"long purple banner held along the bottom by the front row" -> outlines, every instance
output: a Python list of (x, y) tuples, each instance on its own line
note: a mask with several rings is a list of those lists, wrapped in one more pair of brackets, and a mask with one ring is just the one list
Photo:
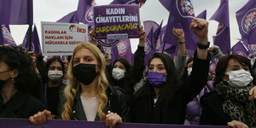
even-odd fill
[[(42, 126), (33, 125), (28, 119), (0, 119), (0, 128), (108, 128), (104, 122), (76, 120), (47, 120)], [(229, 128), (224, 125), (164, 125), (164, 124), (135, 124), (121, 123), (116, 128)]]

